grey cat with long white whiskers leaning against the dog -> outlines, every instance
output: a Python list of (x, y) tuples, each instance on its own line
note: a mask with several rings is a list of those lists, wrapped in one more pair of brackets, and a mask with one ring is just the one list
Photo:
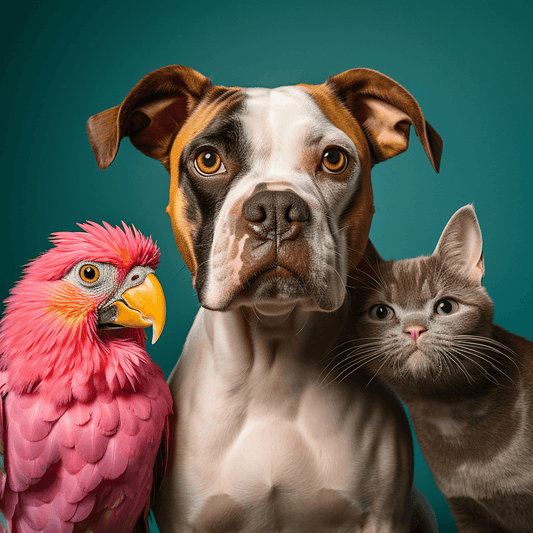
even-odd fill
[(366, 369), (399, 396), (459, 533), (533, 532), (533, 343), (493, 324), (474, 208), (432, 255), (384, 261), (369, 243), (363, 264), (358, 340), (331, 375)]

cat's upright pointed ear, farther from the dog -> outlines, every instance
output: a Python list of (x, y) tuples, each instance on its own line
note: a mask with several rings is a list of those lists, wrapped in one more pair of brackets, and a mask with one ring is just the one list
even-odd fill
[(465, 205), (455, 212), (433, 253), (481, 285), (485, 274), (483, 239), (473, 205)]

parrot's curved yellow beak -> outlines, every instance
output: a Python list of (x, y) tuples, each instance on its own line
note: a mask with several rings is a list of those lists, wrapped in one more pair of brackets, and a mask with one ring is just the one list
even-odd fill
[(154, 274), (148, 274), (146, 279), (136, 287), (128, 289), (122, 294), (126, 302), (116, 302), (117, 316), (113, 324), (120, 324), (130, 328), (147, 328), (153, 326), (152, 344), (155, 344), (163, 328), (167, 306), (161, 283)]

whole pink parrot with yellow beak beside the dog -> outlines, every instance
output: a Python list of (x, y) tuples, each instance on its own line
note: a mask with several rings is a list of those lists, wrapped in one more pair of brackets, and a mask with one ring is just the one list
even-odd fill
[(164, 325), (159, 250), (124, 223), (79, 226), (52, 235), (0, 322), (10, 532), (147, 531), (166, 462), (172, 397), (141, 329), (155, 342)]

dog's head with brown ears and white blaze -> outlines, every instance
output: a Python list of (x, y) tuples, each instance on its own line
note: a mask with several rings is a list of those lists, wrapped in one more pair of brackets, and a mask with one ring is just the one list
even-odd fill
[(167, 213), (204, 307), (332, 311), (368, 240), (371, 168), (407, 149), (411, 124), (438, 172), (440, 137), (414, 98), (373, 70), (243, 89), (169, 66), (87, 129), (101, 169), (128, 136), (170, 172)]

